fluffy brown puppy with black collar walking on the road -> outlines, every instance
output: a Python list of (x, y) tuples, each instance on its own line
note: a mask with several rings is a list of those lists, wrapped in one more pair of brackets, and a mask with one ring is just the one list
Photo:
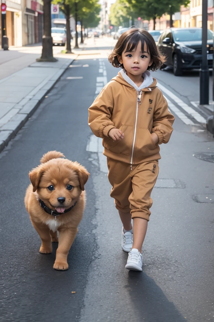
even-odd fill
[(67, 256), (78, 232), (85, 207), (84, 185), (88, 171), (77, 162), (62, 159), (62, 153), (50, 151), (34, 168), (24, 203), (42, 245), (40, 253), (52, 252), (51, 242), (58, 242), (53, 268), (67, 270)]

